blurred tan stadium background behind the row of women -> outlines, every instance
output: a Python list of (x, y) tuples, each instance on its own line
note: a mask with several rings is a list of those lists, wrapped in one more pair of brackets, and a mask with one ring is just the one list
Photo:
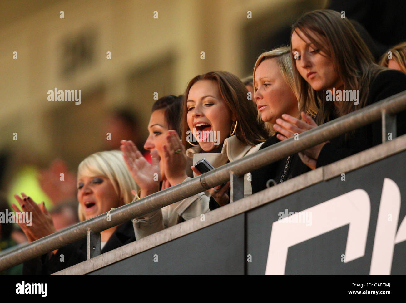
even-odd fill
[[(2, 0), (0, 191), (73, 205), (82, 159), (122, 139), (143, 148), (154, 92), (180, 95), (211, 70), (252, 75), (302, 13), (323, 8), (365, 27), (376, 56), (406, 40), (403, 0)], [(82, 90), (81, 104), (49, 102), (54, 88)]]

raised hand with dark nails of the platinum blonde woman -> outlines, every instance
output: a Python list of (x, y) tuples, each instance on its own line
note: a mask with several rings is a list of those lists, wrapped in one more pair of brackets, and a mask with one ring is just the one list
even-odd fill
[[(24, 234), (28, 238), (28, 242), (32, 242), (42, 237), (48, 236), (56, 232), (52, 217), (45, 208), (44, 202), (41, 204), (35, 203), (30, 197), (27, 197), (25, 193), (21, 193), (22, 198), (18, 195), (14, 195), (15, 200), (21, 206), (23, 212), (32, 213), (31, 221), (19, 222), (19, 218), (16, 217), (16, 223), (22, 229)], [(19, 213), (20, 210), (15, 204), (11, 204), (11, 207)]]

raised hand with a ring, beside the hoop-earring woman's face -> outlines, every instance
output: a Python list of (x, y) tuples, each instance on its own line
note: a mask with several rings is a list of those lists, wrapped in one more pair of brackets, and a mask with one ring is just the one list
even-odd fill
[[(173, 186), (185, 181), (186, 165), (188, 163), (185, 146), (178, 134), (174, 130), (168, 131), (166, 136), (166, 144), (163, 148), (163, 161), (165, 177)], [(180, 150), (180, 153), (175, 153), (175, 150)]]

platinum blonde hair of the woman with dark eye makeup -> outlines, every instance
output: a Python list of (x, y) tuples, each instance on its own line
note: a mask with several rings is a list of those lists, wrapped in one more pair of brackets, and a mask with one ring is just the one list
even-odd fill
[[(104, 176), (108, 178), (120, 200), (123, 201), (122, 205), (135, 200), (131, 190), (138, 191), (138, 185), (128, 171), (123, 155), (119, 150), (94, 153), (84, 159), (78, 167), (78, 180), (84, 176)], [(80, 203), (78, 215), (79, 220), (84, 221), (84, 211)]]

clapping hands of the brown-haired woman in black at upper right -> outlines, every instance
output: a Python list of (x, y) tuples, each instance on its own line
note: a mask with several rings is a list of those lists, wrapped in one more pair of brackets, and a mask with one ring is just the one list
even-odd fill
[[(279, 134), (276, 135), (279, 140), (286, 140), (287, 138), (293, 137), (294, 133), (300, 134), (304, 131), (317, 127), (317, 124), (314, 122), (313, 118), (304, 114), (304, 112), (301, 112), (300, 115), (302, 116), (303, 120), (299, 120), (289, 116), (288, 114), (283, 114), (283, 119), (276, 119), (276, 124), (274, 124), (273, 127), (279, 132)], [(302, 162), (314, 170), (316, 168), (317, 159), (319, 158), (320, 152), (326, 143), (328, 143), (328, 141), (299, 152), (298, 155)]]

